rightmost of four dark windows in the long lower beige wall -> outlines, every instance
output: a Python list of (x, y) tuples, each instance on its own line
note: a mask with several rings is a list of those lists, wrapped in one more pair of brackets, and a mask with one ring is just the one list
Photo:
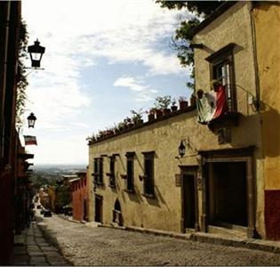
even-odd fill
[(154, 157), (155, 152), (143, 152), (144, 155), (144, 196), (154, 197)]

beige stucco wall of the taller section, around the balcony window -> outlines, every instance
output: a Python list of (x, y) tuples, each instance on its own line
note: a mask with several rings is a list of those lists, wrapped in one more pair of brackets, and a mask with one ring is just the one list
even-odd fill
[(236, 44), (234, 54), (237, 111), (242, 113), (240, 124), (232, 127), (229, 146), (255, 145), (256, 227), (261, 236), (264, 231), (264, 182), (260, 114), (248, 104), (249, 95), (256, 96), (256, 80), (252, 43), (250, 2), (238, 2), (210, 25), (201, 30), (193, 41), (206, 48), (195, 49), (196, 90), (210, 90), (210, 66), (205, 58), (227, 44)]

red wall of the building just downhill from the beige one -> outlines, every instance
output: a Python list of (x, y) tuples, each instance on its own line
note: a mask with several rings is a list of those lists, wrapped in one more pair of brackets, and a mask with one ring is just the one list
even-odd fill
[[(86, 174), (80, 175), (80, 180), (72, 182), (72, 207), (73, 219), (76, 221), (87, 220), (87, 201), (88, 192), (86, 184)], [(84, 201), (86, 201), (86, 208), (84, 210)], [(84, 216), (86, 216), (84, 218)]]

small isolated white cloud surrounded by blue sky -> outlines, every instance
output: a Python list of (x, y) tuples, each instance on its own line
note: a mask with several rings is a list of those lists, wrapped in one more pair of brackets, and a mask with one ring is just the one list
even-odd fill
[(134, 77), (119, 77), (114, 82), (114, 86), (127, 87), (132, 90), (135, 95), (135, 101), (151, 101), (154, 99), (155, 89), (151, 89), (149, 85), (142, 85), (143, 80)]

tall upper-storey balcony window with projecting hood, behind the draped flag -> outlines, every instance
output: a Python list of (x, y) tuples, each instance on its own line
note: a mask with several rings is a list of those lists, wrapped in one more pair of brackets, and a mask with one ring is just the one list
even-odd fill
[(237, 111), (233, 57), (234, 47), (235, 44), (228, 44), (205, 59), (210, 63), (211, 79), (219, 80), (226, 87), (229, 112)]

